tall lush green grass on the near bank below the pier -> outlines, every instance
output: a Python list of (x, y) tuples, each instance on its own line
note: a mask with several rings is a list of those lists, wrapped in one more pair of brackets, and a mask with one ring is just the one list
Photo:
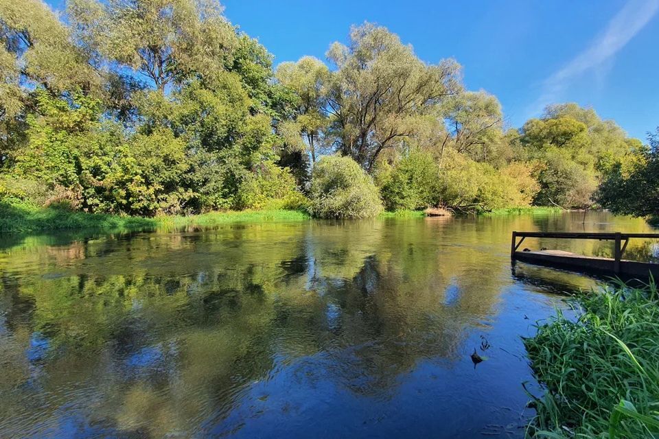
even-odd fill
[[(659, 294), (618, 285), (578, 299), (524, 341), (537, 380), (537, 438), (659, 437)], [(535, 397), (534, 397), (535, 398)]]

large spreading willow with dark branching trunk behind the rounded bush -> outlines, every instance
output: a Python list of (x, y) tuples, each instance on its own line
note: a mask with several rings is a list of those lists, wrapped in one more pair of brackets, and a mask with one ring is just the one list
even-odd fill
[(343, 154), (370, 171), (385, 148), (415, 133), (424, 115), (461, 90), (454, 60), (426, 64), (385, 27), (353, 27), (348, 45), (327, 52), (334, 63), (327, 111)]

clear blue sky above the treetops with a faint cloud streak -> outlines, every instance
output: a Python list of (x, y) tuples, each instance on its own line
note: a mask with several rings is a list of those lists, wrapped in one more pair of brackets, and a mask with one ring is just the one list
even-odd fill
[[(63, 0), (49, 0), (62, 8)], [(389, 27), (419, 58), (453, 57), (467, 88), (500, 100), (509, 126), (577, 102), (645, 139), (659, 126), (659, 0), (224, 0), (275, 64), (345, 42), (352, 24)]]

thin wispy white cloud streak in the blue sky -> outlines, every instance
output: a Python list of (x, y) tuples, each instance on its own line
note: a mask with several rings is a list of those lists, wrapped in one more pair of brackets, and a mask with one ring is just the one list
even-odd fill
[(659, 0), (628, 1), (586, 50), (542, 82), (542, 93), (529, 108), (529, 113), (537, 115), (544, 106), (560, 99), (570, 83), (587, 71), (594, 71), (602, 78), (607, 66), (611, 65), (608, 61), (647, 25), (658, 10)]

